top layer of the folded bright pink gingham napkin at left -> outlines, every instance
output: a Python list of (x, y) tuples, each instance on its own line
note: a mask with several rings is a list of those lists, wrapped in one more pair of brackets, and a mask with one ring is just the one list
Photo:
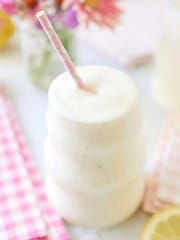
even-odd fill
[(0, 98), (0, 239), (46, 235), (33, 185), (11, 128), (9, 105)]

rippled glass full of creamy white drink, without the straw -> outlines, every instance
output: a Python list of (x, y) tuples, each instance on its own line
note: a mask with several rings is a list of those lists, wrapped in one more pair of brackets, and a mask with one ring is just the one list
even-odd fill
[(47, 191), (65, 220), (108, 227), (129, 217), (143, 195), (139, 96), (133, 81), (113, 68), (78, 72), (93, 93), (78, 89), (68, 73), (49, 90)]

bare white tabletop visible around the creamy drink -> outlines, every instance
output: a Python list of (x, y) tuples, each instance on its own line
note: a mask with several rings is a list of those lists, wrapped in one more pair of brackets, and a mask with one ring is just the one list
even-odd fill
[[(78, 63), (113, 65), (104, 57), (85, 46), (78, 48)], [(119, 66), (115, 66), (118, 67)], [(165, 123), (165, 114), (152, 101), (150, 94), (153, 78), (153, 64), (126, 69), (137, 82), (144, 110), (144, 133), (147, 142), (147, 160), (152, 159), (161, 129)], [(44, 175), (43, 142), (46, 135), (45, 112), (47, 94), (36, 88), (23, 71), (22, 59), (17, 46), (12, 44), (6, 50), (0, 50), (0, 84), (6, 86), (8, 95), (16, 109), (24, 134)], [(72, 240), (138, 240), (147, 215), (139, 211), (121, 226), (108, 230), (87, 230), (70, 227)]]

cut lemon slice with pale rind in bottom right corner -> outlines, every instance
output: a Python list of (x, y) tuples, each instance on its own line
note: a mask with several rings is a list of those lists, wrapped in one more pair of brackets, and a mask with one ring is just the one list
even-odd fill
[(180, 207), (169, 207), (150, 218), (142, 240), (180, 240)]

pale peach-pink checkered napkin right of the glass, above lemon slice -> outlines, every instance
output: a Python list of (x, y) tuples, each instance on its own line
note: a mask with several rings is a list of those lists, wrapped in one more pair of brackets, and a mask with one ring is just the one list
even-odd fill
[(143, 209), (154, 213), (180, 204), (180, 119), (171, 119), (147, 174)]

